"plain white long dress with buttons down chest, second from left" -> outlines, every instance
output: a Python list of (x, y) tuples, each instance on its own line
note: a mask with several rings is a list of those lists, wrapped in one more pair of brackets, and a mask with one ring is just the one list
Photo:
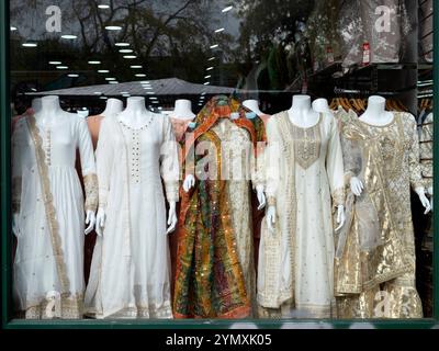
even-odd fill
[(165, 180), (179, 200), (178, 146), (168, 117), (150, 113), (134, 129), (106, 117), (97, 150), (100, 208), (105, 208), (86, 293), (97, 318), (172, 318)]

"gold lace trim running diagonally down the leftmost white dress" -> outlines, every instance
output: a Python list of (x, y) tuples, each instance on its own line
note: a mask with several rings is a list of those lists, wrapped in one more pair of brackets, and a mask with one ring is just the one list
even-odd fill
[(59, 235), (59, 225), (56, 217), (56, 210), (54, 206), (54, 196), (50, 192), (50, 180), (48, 177), (48, 167), (44, 161), (46, 159), (46, 154), (43, 149), (43, 139), (40, 135), (40, 129), (36, 126), (35, 116), (30, 115), (27, 118), (27, 127), (31, 133), (32, 140), (35, 146), (35, 159), (38, 168), (38, 173), (41, 178), (42, 196), (44, 199), (44, 207), (46, 214), (46, 220), (48, 226), (48, 231), (50, 235), (52, 249), (54, 252), (54, 258), (56, 262), (56, 270), (58, 273), (59, 283), (61, 291), (64, 292), (61, 297), (70, 290), (70, 282), (67, 276), (66, 263), (64, 261), (64, 252), (61, 247), (61, 237)]

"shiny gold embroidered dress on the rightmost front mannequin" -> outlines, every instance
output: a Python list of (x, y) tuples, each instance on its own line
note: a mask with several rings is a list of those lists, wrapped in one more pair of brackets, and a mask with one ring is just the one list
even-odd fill
[(350, 112), (342, 131), (347, 184), (358, 177), (364, 191), (348, 195), (338, 242), (339, 317), (421, 318), (410, 210), (410, 185), (423, 186), (415, 118), (394, 113), (372, 126)]

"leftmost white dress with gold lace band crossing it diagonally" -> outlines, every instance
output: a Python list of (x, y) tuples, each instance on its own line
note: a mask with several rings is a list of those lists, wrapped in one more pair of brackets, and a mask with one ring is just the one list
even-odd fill
[[(14, 297), (27, 319), (81, 318), (85, 210), (95, 211), (98, 184), (85, 120), (53, 125), (21, 118), (12, 136), (13, 210), (19, 215)], [(79, 148), (87, 202), (75, 169)]]

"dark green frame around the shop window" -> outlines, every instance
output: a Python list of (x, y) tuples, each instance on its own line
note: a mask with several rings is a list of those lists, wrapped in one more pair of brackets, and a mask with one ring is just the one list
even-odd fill
[[(1, 282), (2, 282), (2, 328), (3, 329), (229, 329), (234, 324), (251, 324), (260, 329), (277, 329), (285, 324), (294, 328), (295, 325), (309, 324), (329, 328), (350, 328), (353, 324), (361, 327), (367, 324), (376, 329), (430, 329), (439, 328), (439, 213), (434, 213), (434, 318), (419, 320), (49, 320), (30, 321), (12, 318), (12, 254), (11, 254), (11, 126), (10, 126), (10, 69), (9, 69), (9, 38), (10, 19), (9, 1), (0, 1), (0, 225), (1, 225)], [(439, 33), (439, 11), (435, 12), (435, 33)], [(435, 35), (435, 46), (439, 48), (439, 35)], [(435, 61), (439, 61), (439, 50), (435, 50)], [(439, 84), (439, 68), (435, 65), (435, 100)], [(439, 104), (435, 104), (435, 113), (439, 113)], [(436, 120), (435, 129), (439, 127)], [(435, 155), (439, 155), (439, 136), (435, 133)], [(439, 170), (439, 162), (434, 165), (435, 176)], [(435, 188), (439, 189), (439, 177), (435, 177)], [(435, 197), (435, 208), (437, 208)]]

